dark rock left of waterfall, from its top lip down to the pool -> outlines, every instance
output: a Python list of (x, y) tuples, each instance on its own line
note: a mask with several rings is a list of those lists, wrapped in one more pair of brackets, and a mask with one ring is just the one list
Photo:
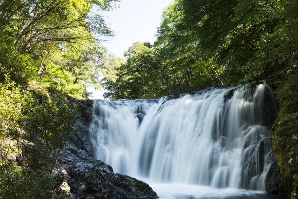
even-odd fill
[(69, 199), (156, 199), (149, 185), (115, 174), (110, 165), (93, 158), (89, 126), (93, 100), (69, 99), (77, 104), (77, 132), (69, 136), (55, 168), (57, 197)]

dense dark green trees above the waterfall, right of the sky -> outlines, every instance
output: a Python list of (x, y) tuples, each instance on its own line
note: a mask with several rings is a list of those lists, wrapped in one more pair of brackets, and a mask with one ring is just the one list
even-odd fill
[(297, 65), (297, 8), (297, 0), (175, 0), (154, 44), (133, 43), (116, 78), (103, 80), (105, 97), (160, 98), (279, 81)]

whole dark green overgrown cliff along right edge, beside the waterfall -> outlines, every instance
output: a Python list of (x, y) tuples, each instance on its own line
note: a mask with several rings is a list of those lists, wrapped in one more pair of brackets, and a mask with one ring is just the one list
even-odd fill
[(296, 199), (298, 193), (298, 72), (288, 75), (277, 90), (279, 117), (272, 127), (271, 141), (280, 167), (280, 198)]

